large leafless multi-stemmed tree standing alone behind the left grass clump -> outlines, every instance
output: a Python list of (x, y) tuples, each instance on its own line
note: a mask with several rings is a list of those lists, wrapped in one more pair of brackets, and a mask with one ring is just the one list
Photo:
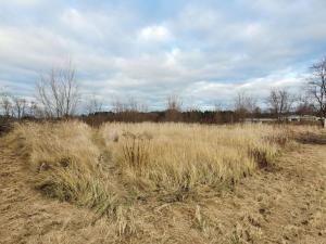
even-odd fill
[(52, 68), (49, 74), (41, 76), (36, 92), (47, 117), (74, 115), (79, 91), (71, 62), (64, 68)]

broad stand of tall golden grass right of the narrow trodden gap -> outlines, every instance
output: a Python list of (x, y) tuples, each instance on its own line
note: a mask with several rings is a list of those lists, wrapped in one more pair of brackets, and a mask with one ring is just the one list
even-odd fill
[(106, 124), (100, 131), (130, 185), (166, 192), (235, 183), (271, 166), (289, 137), (262, 125)]

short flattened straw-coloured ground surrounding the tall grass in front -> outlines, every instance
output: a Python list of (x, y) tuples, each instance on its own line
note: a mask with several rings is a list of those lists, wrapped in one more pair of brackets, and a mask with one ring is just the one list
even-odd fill
[(301, 142), (277, 165), (233, 190), (143, 201), (127, 224), (41, 195), (0, 139), (0, 243), (326, 243), (325, 140)]

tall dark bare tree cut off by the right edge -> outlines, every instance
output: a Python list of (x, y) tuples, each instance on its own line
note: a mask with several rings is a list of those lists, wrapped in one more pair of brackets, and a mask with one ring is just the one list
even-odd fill
[(311, 67), (309, 92), (317, 105), (318, 113), (326, 117), (326, 57)]

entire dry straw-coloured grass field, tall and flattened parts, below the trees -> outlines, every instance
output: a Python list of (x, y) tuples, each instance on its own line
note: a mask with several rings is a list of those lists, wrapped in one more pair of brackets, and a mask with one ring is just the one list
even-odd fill
[(0, 139), (0, 243), (326, 243), (316, 127), (79, 121)]

